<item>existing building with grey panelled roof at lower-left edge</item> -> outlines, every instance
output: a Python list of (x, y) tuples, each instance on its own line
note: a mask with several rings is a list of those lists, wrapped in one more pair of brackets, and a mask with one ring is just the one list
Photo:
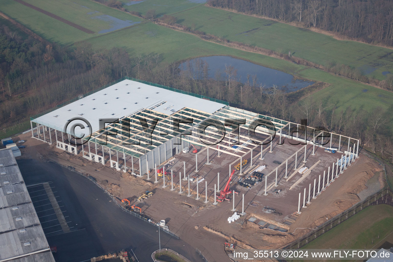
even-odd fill
[(0, 261), (55, 261), (11, 148), (0, 150)]

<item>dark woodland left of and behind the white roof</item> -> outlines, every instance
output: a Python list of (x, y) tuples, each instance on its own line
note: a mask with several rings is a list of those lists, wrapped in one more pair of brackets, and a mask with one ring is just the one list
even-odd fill
[(0, 27), (0, 123), (7, 127), (79, 94), (128, 75), (129, 55), (121, 48), (75, 51), (22, 39)]

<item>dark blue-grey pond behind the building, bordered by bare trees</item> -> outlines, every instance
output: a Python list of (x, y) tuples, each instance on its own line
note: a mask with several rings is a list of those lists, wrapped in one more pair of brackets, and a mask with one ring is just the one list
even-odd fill
[(216, 55), (210, 57), (198, 57), (181, 63), (179, 68), (181, 70), (189, 70), (195, 76), (196, 72), (206, 66), (208, 66), (208, 77), (211, 79), (217, 80), (218, 76), (220, 76), (220, 80), (224, 80), (227, 78), (225, 73), (226, 68), (233, 66), (233, 69), (237, 70), (237, 72), (236, 76), (232, 77), (232, 79), (235, 79), (236, 81), (239, 81), (240, 79), (240, 82), (246, 83), (247, 75), (250, 75), (249, 81), (250, 84), (252, 84), (252, 76), (255, 75), (255, 86), (259, 87), (262, 84), (265, 88), (270, 88), (273, 85), (276, 85), (287, 93), (294, 92), (314, 84), (312, 81), (295, 79), (293, 75), (282, 71), (253, 64), (252, 62), (230, 56)]

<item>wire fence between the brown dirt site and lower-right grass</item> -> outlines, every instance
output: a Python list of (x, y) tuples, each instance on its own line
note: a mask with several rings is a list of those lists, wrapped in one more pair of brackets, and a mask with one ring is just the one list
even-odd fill
[(387, 187), (373, 194), (372, 196), (369, 196), (364, 201), (359, 202), (356, 205), (350, 207), (344, 212), (334, 216), (329, 221), (326, 221), (322, 225), (318, 226), (317, 229), (310, 231), (305, 236), (297, 240), (294, 240), (293, 242), (289, 243), (287, 246), (283, 248), (299, 249), (305, 246), (306, 244), (310, 243), (312, 240), (316, 239), (318, 236), (323, 235), (327, 231), (331, 230), (335, 226), (347, 220), (351, 216), (359, 213), (365, 207), (368, 207), (369, 205), (378, 205), (378, 204), (388, 204), (393, 206), (393, 193)]

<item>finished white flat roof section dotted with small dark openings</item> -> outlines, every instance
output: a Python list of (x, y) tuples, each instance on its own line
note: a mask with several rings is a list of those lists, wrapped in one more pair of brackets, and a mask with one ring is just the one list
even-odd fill
[[(46, 115), (37, 117), (33, 122), (63, 131), (64, 125), (69, 119), (83, 117), (89, 121), (92, 132), (95, 132), (99, 130), (99, 119), (121, 119), (145, 108), (154, 108), (155, 111), (167, 115), (174, 114), (184, 107), (213, 114), (224, 106), (226, 105), (137, 81), (123, 80), (62, 108), (53, 110)], [(82, 123), (87, 126), (86, 123), (78, 120), (72, 121), (70, 126), (75, 123)], [(69, 131), (68, 128), (67, 133)], [(75, 135), (78, 137), (83, 134), (87, 135), (87, 133), (88, 129), (75, 128)]]

